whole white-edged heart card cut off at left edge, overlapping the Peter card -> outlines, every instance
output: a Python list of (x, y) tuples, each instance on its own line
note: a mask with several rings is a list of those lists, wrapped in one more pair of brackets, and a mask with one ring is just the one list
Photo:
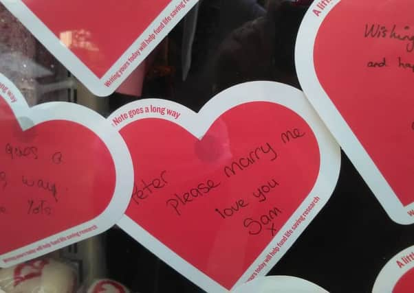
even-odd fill
[(3, 75), (0, 89), (0, 266), (113, 226), (133, 186), (118, 132), (76, 104), (29, 108)]

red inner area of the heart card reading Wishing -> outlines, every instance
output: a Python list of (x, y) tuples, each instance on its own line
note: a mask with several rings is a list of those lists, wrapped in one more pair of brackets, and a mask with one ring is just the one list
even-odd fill
[(320, 84), (404, 206), (414, 200), (414, 71), (399, 67), (398, 57), (414, 63), (414, 55), (412, 41), (392, 36), (394, 25), (396, 34), (414, 34), (406, 27), (413, 9), (410, 0), (340, 1), (314, 46)]

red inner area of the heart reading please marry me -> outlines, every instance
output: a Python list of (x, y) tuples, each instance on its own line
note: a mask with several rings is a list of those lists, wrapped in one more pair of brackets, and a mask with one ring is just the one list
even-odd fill
[[(287, 141), (282, 134), (288, 130), (297, 139)], [(155, 118), (134, 121), (120, 133), (135, 169), (126, 214), (228, 289), (308, 196), (320, 168), (318, 143), (307, 123), (270, 102), (231, 108), (201, 141)], [(235, 167), (235, 174), (226, 166)], [(259, 196), (262, 187), (270, 189), (266, 200)], [(265, 215), (272, 220), (260, 226), (252, 222), (261, 215), (263, 223), (268, 222)]]

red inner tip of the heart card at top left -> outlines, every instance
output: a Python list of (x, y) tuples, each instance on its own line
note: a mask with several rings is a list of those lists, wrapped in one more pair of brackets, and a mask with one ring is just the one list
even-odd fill
[(170, 2), (23, 0), (98, 78), (102, 78)]

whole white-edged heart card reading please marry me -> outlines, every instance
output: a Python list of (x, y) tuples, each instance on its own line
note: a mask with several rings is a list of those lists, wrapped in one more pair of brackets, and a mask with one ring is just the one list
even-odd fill
[(284, 84), (235, 86), (199, 113), (144, 99), (108, 119), (135, 169), (119, 226), (208, 292), (268, 272), (338, 178), (338, 145)]

